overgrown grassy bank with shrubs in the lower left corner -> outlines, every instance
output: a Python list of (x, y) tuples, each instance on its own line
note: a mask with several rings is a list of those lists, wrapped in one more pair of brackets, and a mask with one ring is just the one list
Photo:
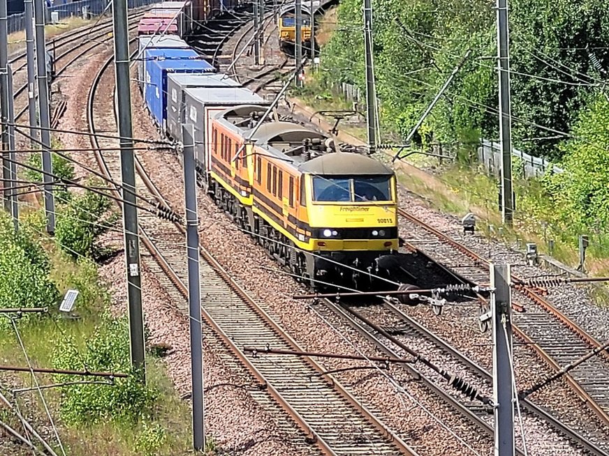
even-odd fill
[[(36, 271), (45, 271), (45, 287), (49, 296), (63, 296), (68, 289), (80, 292), (73, 314), (75, 318), (58, 312), (59, 303), (47, 303), (50, 312), (45, 315), (29, 314), (15, 320), (17, 331), (29, 357), (36, 367), (55, 367), (71, 370), (129, 372), (129, 335), (126, 317), (110, 314), (110, 293), (98, 276), (98, 266), (91, 259), (78, 260), (61, 250), (41, 231), (41, 215), (22, 215), (21, 231), (24, 238), (18, 241), (10, 234), (8, 217), (0, 214), (0, 243), (17, 252), (17, 260), (0, 254), (0, 270), (6, 282), (19, 280), (23, 264), (30, 261)], [(34, 222), (28, 222), (34, 220)], [(38, 250), (42, 246), (43, 248)], [(17, 250), (22, 248), (21, 252)], [(29, 248), (30, 253), (23, 252)], [(19, 254), (21, 253), (21, 254)], [(34, 270), (34, 269), (32, 269)], [(13, 273), (15, 271), (15, 273)], [(20, 283), (27, 287), (28, 277)], [(34, 285), (31, 285), (34, 289)], [(55, 290), (56, 288), (56, 290)], [(3, 298), (12, 298), (2, 307), (27, 305), (33, 296), (27, 290), (13, 293), (0, 286)], [(4, 301), (4, 299), (3, 299)], [(6, 300), (8, 301), (8, 300)], [(38, 303), (38, 301), (36, 301)], [(2, 363), (27, 366), (27, 358), (17, 333), (10, 321), (0, 321), (0, 347)], [(94, 377), (68, 377), (37, 374), (43, 385), (71, 381), (108, 381)], [(13, 388), (34, 386), (27, 373), (0, 376), (3, 392), (10, 397)], [(179, 399), (166, 374), (160, 358), (147, 354), (147, 386), (134, 380), (116, 379), (115, 385), (68, 385), (43, 390), (51, 416), (59, 427), (61, 442), (69, 455), (181, 455), (189, 453), (191, 444), (191, 412), (188, 402)], [(34, 420), (38, 430), (48, 429), (49, 420), (38, 391), (19, 393), (17, 399), (22, 411)], [(141, 406), (140, 406), (141, 404)], [(1, 407), (0, 407), (1, 408)], [(34, 417), (34, 418), (31, 418)], [(15, 416), (3, 411), (7, 420), (17, 430), (21, 429)], [(61, 454), (56, 439), (49, 443)], [(24, 452), (26, 454), (27, 452)]]

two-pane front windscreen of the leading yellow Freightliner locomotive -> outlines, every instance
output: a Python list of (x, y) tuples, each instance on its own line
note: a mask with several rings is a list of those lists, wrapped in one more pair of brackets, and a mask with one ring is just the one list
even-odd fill
[(392, 201), (390, 176), (313, 178), (313, 200), (316, 202)]

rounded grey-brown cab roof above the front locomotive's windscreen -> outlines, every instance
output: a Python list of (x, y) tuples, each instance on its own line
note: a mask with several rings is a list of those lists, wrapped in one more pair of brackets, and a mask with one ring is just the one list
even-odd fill
[(302, 163), (301, 172), (323, 176), (351, 176), (358, 174), (381, 174), (390, 176), (393, 171), (374, 158), (359, 153), (332, 152)]

